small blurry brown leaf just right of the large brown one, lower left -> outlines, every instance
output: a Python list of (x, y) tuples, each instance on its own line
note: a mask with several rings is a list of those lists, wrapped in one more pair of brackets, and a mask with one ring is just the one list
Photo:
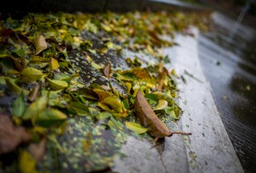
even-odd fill
[(31, 143), (29, 146), (29, 151), (31, 152), (32, 156), (36, 159), (36, 161), (41, 161), (45, 155), (45, 146), (46, 146), (47, 139), (42, 138), (40, 143)]

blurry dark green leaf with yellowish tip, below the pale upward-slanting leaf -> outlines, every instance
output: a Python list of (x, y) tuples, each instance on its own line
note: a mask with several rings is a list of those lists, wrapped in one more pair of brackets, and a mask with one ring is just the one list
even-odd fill
[(49, 128), (50, 126), (59, 126), (67, 119), (67, 115), (59, 110), (51, 108), (44, 110), (35, 119), (35, 124)]

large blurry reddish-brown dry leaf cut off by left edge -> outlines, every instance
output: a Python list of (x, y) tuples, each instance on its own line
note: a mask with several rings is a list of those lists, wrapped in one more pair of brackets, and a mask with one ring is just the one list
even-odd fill
[(23, 127), (16, 127), (7, 115), (0, 114), (0, 154), (12, 152), (20, 143), (31, 139)]

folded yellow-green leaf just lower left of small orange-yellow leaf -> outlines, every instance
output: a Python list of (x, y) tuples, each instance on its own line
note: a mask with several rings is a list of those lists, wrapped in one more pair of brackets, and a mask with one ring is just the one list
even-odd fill
[(44, 74), (36, 69), (36, 68), (25, 68), (22, 72), (21, 72), (21, 77), (20, 77), (20, 81), (21, 82), (33, 82), (33, 81), (37, 81), (40, 80), (40, 78), (43, 76)]

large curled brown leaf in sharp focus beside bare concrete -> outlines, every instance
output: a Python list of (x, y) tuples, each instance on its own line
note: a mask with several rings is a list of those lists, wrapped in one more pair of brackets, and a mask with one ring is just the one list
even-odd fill
[(170, 136), (172, 133), (166, 125), (154, 114), (154, 110), (145, 100), (141, 91), (138, 91), (135, 97), (135, 115), (140, 119), (140, 123), (149, 128), (149, 133), (155, 138), (164, 138)]

